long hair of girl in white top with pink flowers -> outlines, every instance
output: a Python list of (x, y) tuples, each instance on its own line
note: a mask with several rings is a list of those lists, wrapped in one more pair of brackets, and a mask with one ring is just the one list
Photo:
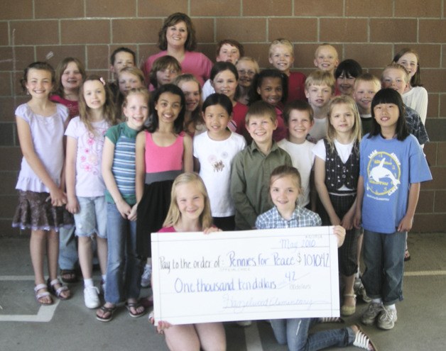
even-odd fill
[(95, 74), (92, 74), (91, 76), (85, 78), (79, 90), (79, 116), (80, 116), (80, 121), (85, 123), (87, 129), (90, 132), (95, 133), (92, 123), (89, 121), (89, 107), (87, 106), (84, 97), (84, 84), (85, 82), (88, 82), (90, 80), (97, 80), (104, 87), (105, 102), (104, 106), (102, 106), (102, 114), (104, 116), (104, 120), (107, 121), (107, 123), (109, 123), (110, 126), (114, 126), (116, 124), (116, 111), (114, 109), (112, 91), (110, 91), (110, 88), (105, 83), (104, 78), (99, 77)]

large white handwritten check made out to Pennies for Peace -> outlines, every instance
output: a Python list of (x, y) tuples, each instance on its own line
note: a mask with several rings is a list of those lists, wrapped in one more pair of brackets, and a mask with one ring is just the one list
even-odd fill
[(339, 316), (332, 227), (152, 233), (156, 321)]

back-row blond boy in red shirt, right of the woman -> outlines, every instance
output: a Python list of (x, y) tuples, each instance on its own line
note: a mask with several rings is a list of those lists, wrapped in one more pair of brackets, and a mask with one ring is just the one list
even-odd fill
[(288, 76), (288, 101), (305, 101), (305, 75), (290, 72), (294, 62), (293, 44), (290, 40), (279, 38), (269, 46), (269, 63)]

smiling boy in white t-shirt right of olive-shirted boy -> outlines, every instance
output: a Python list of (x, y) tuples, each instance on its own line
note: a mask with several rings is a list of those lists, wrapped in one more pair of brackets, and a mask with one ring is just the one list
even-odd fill
[(315, 123), (312, 108), (307, 101), (291, 101), (283, 109), (283, 120), (288, 128), (288, 138), (279, 141), (278, 146), (288, 152), (293, 167), (298, 169), (302, 186), (299, 205), (309, 208), (310, 175), (315, 163), (312, 149), (315, 144), (306, 138)]

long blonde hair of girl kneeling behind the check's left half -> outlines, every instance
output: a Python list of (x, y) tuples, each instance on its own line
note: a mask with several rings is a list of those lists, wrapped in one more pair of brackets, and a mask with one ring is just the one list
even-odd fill
[(178, 224), (181, 218), (180, 208), (178, 208), (177, 204), (177, 186), (182, 184), (189, 184), (195, 182), (198, 185), (198, 189), (205, 199), (205, 208), (203, 208), (202, 213), (200, 214), (200, 225), (202, 229), (210, 228), (212, 226), (212, 214), (211, 214), (211, 206), (209, 201), (209, 196), (207, 196), (207, 190), (205, 183), (203, 183), (200, 176), (196, 173), (183, 173), (175, 178), (172, 185), (172, 191), (170, 191), (170, 206), (167, 216), (165, 217), (165, 221), (163, 223), (163, 227), (171, 227), (173, 225)]

